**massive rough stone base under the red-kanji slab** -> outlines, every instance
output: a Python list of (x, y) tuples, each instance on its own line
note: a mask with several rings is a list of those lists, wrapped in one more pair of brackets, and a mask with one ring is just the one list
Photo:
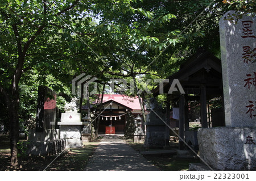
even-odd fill
[(256, 128), (200, 128), (200, 157), (217, 170), (256, 169)]

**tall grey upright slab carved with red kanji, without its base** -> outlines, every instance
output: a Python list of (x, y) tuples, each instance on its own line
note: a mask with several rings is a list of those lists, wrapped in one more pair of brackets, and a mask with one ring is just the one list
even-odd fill
[[(235, 13), (228, 12), (229, 15)], [(226, 126), (255, 127), (255, 16), (243, 16), (242, 19), (237, 20), (237, 23), (234, 20), (224, 19), (220, 22)]]

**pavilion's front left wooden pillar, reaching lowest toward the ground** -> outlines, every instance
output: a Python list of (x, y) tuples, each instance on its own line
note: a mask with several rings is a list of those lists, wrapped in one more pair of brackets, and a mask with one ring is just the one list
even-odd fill
[[(185, 121), (185, 98), (184, 95), (180, 95), (179, 101), (179, 150), (184, 150), (184, 121)], [(182, 138), (182, 140), (181, 140)]]

